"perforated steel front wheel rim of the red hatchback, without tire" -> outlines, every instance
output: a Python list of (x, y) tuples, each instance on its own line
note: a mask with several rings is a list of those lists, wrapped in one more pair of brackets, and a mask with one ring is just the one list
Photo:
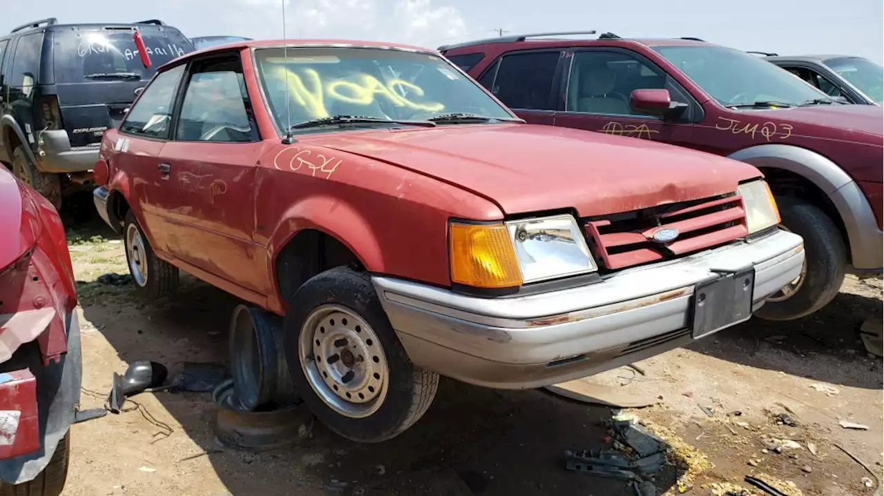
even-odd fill
[(389, 366), (374, 329), (355, 312), (324, 304), (310, 312), (298, 342), (310, 387), (340, 415), (369, 417), (384, 403)]

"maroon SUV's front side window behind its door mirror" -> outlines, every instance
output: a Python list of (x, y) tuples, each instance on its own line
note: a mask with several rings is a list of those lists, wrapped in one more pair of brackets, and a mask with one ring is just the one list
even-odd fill
[[(566, 109), (570, 112), (645, 116), (633, 113), (629, 95), (636, 89), (669, 89), (667, 75), (635, 56), (614, 51), (579, 51), (574, 54), (568, 79)], [(680, 92), (679, 92), (680, 93)]]

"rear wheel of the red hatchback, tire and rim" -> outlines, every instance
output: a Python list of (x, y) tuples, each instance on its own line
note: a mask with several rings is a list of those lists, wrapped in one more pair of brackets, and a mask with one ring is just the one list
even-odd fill
[(144, 236), (132, 210), (126, 212), (123, 243), (126, 245), (126, 262), (132, 274), (135, 288), (151, 299), (164, 297), (178, 289), (178, 267), (156, 258), (148, 237)]

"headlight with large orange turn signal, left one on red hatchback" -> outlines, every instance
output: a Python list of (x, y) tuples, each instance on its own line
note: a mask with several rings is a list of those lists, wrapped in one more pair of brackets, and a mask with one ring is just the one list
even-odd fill
[(450, 230), (452, 281), (507, 288), (598, 270), (570, 215), (505, 224), (462, 224)]

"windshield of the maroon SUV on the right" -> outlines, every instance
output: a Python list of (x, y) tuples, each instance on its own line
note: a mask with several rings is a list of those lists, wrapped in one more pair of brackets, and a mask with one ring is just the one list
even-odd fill
[(725, 106), (772, 101), (800, 105), (830, 100), (789, 71), (740, 50), (710, 45), (654, 49)]

